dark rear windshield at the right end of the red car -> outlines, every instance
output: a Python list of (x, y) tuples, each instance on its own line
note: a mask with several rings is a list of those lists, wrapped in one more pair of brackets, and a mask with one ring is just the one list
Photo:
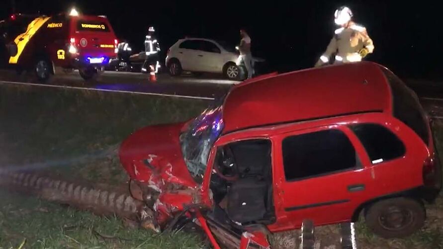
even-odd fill
[(392, 90), (394, 116), (409, 126), (419, 137), (429, 144), (428, 123), (415, 93), (397, 76), (383, 68)]

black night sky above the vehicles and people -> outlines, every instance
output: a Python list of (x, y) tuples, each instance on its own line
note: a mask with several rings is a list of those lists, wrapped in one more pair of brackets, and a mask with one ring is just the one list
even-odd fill
[[(4, 3), (6, 3), (6, 7)], [(12, 0), (2, 0), (0, 19), (11, 12)], [(311, 1), (191, 1), (191, 0), (15, 0), (17, 12), (53, 14), (70, 6), (87, 14), (107, 15), (117, 37), (140, 50), (150, 25), (158, 30), (165, 51), (184, 35), (212, 37), (235, 45), (245, 27), (253, 53), (270, 70), (311, 67), (335, 29), (333, 13), (341, 5), (354, 11), (374, 40), (368, 60), (404, 77), (443, 79), (442, 14), (436, 3), (378, 0)]]

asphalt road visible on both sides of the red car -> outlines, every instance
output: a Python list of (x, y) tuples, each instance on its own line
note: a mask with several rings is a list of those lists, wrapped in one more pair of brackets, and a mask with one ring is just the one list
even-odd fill
[[(238, 83), (217, 75), (171, 77), (167, 74), (160, 74), (156, 83), (149, 82), (148, 77), (149, 75), (140, 73), (104, 72), (96, 81), (85, 82), (75, 71), (54, 76), (45, 85), (213, 99), (223, 95), (233, 84)], [(0, 83), (1, 81), (40, 84), (30, 74), (18, 76), (14, 71), (8, 70), (0, 70)], [(421, 103), (431, 116), (443, 118), (443, 82), (420, 80), (406, 80), (405, 82), (418, 94)]]

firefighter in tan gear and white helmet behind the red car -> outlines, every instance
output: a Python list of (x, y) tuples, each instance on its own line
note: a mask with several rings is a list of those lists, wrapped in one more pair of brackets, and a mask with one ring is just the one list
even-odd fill
[(359, 62), (374, 50), (374, 44), (366, 28), (352, 21), (353, 13), (349, 7), (340, 7), (334, 16), (334, 21), (340, 28), (335, 30), (334, 37), (315, 67)]

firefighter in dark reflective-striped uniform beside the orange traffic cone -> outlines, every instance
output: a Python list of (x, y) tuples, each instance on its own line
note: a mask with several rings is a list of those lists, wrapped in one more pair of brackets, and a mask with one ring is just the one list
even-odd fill
[(160, 68), (159, 64), (159, 52), (160, 44), (155, 35), (154, 27), (149, 27), (148, 34), (145, 39), (145, 52), (146, 60), (143, 63), (142, 71), (146, 72), (150, 70), (150, 73), (157, 73)]

